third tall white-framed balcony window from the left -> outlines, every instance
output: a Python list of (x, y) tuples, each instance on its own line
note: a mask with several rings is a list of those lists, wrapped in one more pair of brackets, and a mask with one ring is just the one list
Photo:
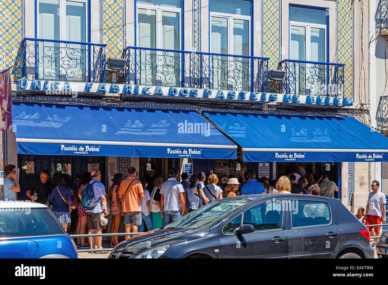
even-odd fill
[[(210, 0), (210, 52), (250, 55), (251, 2)], [(249, 59), (213, 56), (213, 89), (241, 88), (249, 85)]]

